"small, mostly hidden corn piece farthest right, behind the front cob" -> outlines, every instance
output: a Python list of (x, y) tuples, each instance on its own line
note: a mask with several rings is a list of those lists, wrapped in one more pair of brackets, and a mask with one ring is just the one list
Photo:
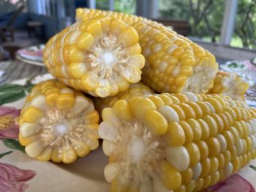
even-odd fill
[(249, 84), (242, 81), (237, 74), (218, 71), (214, 79), (214, 86), (208, 94), (224, 94), (235, 100), (244, 101)]

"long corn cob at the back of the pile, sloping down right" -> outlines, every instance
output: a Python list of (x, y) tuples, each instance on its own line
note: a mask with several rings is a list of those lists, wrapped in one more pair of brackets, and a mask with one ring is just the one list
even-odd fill
[(158, 93), (205, 94), (213, 86), (218, 63), (210, 52), (157, 22), (110, 11), (78, 9), (77, 19), (120, 18), (138, 32), (146, 66), (142, 82)]

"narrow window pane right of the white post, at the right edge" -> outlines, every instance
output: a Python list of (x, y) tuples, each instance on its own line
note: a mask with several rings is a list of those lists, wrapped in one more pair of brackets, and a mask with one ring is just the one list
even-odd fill
[(238, 0), (231, 46), (256, 50), (256, 1)]

